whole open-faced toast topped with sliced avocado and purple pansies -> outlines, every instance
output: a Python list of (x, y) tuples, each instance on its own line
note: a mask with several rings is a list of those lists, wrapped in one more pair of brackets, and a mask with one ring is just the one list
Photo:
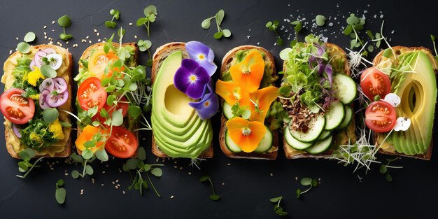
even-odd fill
[(152, 152), (157, 157), (213, 157), (211, 118), (218, 96), (214, 53), (198, 41), (157, 48), (152, 67)]

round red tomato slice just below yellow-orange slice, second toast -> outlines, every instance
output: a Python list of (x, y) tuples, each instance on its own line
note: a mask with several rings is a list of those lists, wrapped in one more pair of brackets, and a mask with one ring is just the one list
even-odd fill
[(99, 78), (91, 77), (84, 80), (78, 88), (80, 108), (87, 111), (97, 106), (99, 111), (106, 103), (106, 90), (101, 86)]

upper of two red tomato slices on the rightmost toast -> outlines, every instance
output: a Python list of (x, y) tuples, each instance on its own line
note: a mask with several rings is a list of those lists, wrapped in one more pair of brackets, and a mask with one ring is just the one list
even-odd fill
[(360, 76), (360, 87), (365, 96), (374, 100), (376, 95), (382, 99), (391, 91), (389, 77), (375, 67), (365, 69)]

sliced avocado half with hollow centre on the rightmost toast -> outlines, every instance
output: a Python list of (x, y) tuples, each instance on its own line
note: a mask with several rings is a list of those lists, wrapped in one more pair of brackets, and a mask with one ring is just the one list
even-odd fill
[[(411, 53), (396, 69), (410, 69), (406, 67), (411, 66), (412, 70), (393, 72), (390, 76), (393, 85), (391, 91), (402, 98), (402, 103), (396, 108), (397, 116), (411, 119), (411, 126), (404, 132), (392, 132), (386, 143), (392, 144), (397, 153), (418, 155), (425, 153), (432, 142), (437, 82), (428, 55), (421, 50)], [(386, 134), (379, 134), (379, 144)]]

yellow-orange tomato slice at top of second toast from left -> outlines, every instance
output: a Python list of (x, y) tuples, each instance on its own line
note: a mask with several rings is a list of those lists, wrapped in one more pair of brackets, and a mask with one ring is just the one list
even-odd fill
[(122, 66), (121, 68), (108, 69), (108, 72), (105, 74), (106, 66), (108, 66), (110, 62), (114, 63), (117, 59), (119, 59), (119, 57), (113, 51), (108, 53), (105, 53), (103, 49), (94, 51), (88, 61), (88, 70), (94, 73), (96, 78), (109, 78), (113, 75), (113, 71), (120, 72), (125, 70), (125, 67)]

